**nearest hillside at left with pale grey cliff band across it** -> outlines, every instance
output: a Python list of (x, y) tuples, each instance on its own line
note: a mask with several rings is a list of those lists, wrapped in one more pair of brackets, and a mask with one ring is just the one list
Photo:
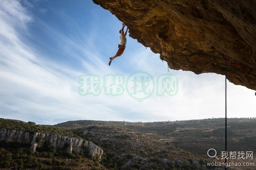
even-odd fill
[(81, 138), (63, 128), (0, 119), (0, 169), (106, 169), (99, 163), (102, 149)]

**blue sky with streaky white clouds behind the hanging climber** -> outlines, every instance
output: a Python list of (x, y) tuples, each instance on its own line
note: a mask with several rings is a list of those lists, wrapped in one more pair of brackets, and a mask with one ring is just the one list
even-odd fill
[[(121, 22), (92, 1), (0, 1), (0, 117), (56, 124), (68, 120), (175, 121), (223, 117), (225, 77), (167, 71), (150, 48), (127, 36), (117, 51)], [(80, 96), (78, 77), (108, 73), (127, 78), (146, 71), (154, 80), (178, 77), (175, 96), (153, 93), (143, 102), (121, 96)], [(101, 87), (101, 90), (103, 88)], [(228, 117), (255, 117), (254, 91), (228, 82)]]

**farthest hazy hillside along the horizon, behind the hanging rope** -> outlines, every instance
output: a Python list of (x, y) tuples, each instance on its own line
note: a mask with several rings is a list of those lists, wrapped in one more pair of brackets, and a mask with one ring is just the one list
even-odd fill
[[(202, 119), (167, 122), (116, 122), (79, 120), (54, 125), (55, 127), (114, 126), (133, 129), (162, 142), (170, 142), (186, 151), (205, 155), (209, 148), (225, 150), (225, 119)], [(228, 150), (256, 152), (256, 119), (228, 118)]]

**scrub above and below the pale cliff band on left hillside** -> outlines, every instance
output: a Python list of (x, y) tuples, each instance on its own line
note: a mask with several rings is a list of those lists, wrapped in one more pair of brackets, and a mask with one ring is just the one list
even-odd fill
[[(0, 119), (0, 129), (25, 130), (31, 133), (41, 132), (81, 138), (64, 128), (9, 119)], [(39, 141), (40, 138), (37, 137), (36, 142)], [(84, 152), (78, 154), (76, 152), (68, 153), (67, 147), (68, 144), (65, 144), (63, 148), (56, 150), (49, 142), (45, 142), (33, 153), (30, 144), (0, 141), (0, 169), (76, 169), (82, 165), (90, 169), (103, 167), (99, 163), (99, 158), (91, 160), (87, 148), (84, 147)]]

